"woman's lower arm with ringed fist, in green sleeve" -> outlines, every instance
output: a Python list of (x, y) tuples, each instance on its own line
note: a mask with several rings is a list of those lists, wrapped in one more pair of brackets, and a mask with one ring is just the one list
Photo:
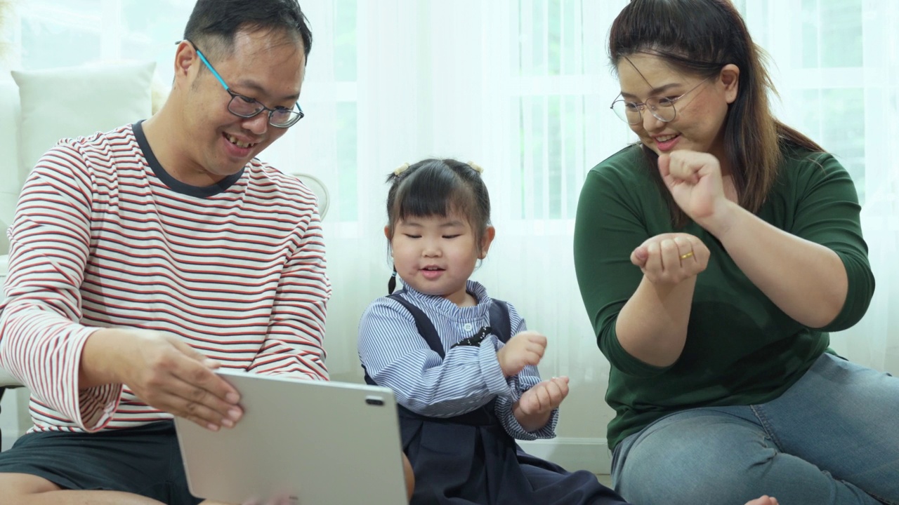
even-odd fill
[(696, 236), (666, 233), (669, 210), (642, 171), (642, 156), (631, 148), (587, 174), (574, 225), (574, 269), (611, 366), (653, 377), (681, 355), (708, 248)]

